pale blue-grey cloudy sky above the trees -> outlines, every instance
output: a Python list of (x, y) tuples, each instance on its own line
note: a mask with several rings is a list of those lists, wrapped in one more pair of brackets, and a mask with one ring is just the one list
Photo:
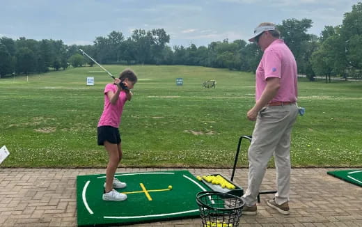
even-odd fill
[(308, 33), (340, 25), (351, 0), (0, 0), (0, 37), (92, 45), (97, 36), (165, 29), (170, 45), (247, 40), (261, 22), (312, 19)]

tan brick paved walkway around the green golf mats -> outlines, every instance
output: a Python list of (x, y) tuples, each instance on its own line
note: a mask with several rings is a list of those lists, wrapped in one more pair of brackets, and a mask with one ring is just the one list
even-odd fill
[[(117, 173), (160, 169), (119, 168)], [(173, 170), (173, 169), (162, 169)], [(230, 169), (187, 169), (194, 175)], [(240, 226), (362, 226), (362, 187), (333, 178), (333, 169), (292, 169), (290, 215), (269, 208), (262, 195), (258, 215), (242, 216)], [(234, 182), (246, 187), (247, 169), (237, 169)], [(104, 169), (0, 169), (0, 226), (77, 226), (77, 175)], [(262, 189), (275, 189), (274, 169), (268, 169)], [(182, 219), (132, 226), (201, 226), (200, 219)]]

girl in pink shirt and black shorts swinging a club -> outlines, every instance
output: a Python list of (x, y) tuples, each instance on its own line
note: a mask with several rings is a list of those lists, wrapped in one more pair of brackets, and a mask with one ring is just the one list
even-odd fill
[(104, 146), (108, 152), (108, 165), (106, 171), (106, 182), (104, 183), (104, 201), (124, 201), (125, 194), (114, 190), (126, 187), (125, 182), (114, 178), (118, 163), (122, 159), (120, 146), (120, 132), (118, 127), (122, 117), (125, 102), (132, 99), (132, 92), (129, 89), (137, 82), (136, 74), (132, 70), (123, 70), (114, 84), (107, 84), (104, 88), (104, 110), (97, 126), (98, 145)]

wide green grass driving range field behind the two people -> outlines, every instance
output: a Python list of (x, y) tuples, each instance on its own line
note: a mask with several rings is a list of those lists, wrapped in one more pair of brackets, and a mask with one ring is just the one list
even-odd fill
[[(118, 75), (123, 65), (104, 65)], [(134, 65), (139, 76), (125, 105), (121, 166), (231, 168), (239, 136), (252, 133), (246, 112), (254, 103), (254, 75), (191, 66)], [(95, 86), (86, 86), (95, 77)], [(175, 79), (182, 77), (183, 86)], [(216, 79), (217, 88), (202, 88)], [(0, 79), (1, 167), (105, 167), (96, 127), (105, 84), (96, 65)], [(299, 116), (292, 136), (292, 166), (361, 166), (362, 82), (299, 81)], [(247, 166), (244, 141), (239, 166)], [(274, 166), (274, 162), (270, 162)]]

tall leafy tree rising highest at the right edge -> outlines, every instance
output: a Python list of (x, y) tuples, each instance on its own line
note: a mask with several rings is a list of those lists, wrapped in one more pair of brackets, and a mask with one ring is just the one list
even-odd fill
[[(320, 37), (320, 47), (311, 58), (316, 75), (323, 75), (326, 81), (331, 75), (345, 75), (362, 68), (362, 3), (352, 6), (351, 13), (345, 13), (341, 26), (325, 26)], [(323, 73), (323, 74), (322, 74)]]

